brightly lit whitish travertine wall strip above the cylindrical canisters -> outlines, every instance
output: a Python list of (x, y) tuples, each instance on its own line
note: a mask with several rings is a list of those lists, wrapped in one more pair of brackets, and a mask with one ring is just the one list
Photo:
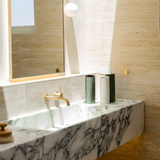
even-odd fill
[(86, 70), (110, 65), (116, 0), (86, 0)]

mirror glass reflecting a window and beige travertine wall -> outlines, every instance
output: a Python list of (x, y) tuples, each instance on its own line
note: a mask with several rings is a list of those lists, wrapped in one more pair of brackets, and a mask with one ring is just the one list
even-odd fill
[(10, 0), (11, 79), (63, 73), (63, 0)]

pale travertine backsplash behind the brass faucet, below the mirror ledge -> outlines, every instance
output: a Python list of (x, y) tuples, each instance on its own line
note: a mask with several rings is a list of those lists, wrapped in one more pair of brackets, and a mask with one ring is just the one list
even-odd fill
[(53, 95), (60, 86), (70, 103), (85, 99), (85, 75), (0, 86), (0, 121), (47, 110), (58, 103), (66, 105), (65, 101), (44, 100), (45, 94)]

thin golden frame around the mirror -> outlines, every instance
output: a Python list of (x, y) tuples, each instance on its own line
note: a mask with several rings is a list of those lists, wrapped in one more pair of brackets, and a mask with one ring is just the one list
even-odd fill
[(9, 39), (9, 82), (17, 83), (17, 82), (25, 82), (25, 81), (33, 81), (47, 78), (56, 78), (62, 77), (66, 75), (66, 67), (65, 67), (65, 40), (64, 40), (64, 1), (62, 0), (62, 20), (63, 20), (63, 58), (64, 58), (64, 72), (63, 73), (53, 73), (39, 76), (31, 76), (31, 77), (23, 77), (23, 78), (13, 78), (13, 68), (12, 68), (12, 32), (11, 32), (11, 0), (8, 0), (8, 39)]

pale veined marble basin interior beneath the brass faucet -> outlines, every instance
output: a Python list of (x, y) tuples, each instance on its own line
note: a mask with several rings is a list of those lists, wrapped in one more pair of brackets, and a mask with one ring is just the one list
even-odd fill
[[(136, 103), (137, 101), (135, 101)], [(128, 101), (127, 105), (131, 105)], [(132, 102), (133, 105), (133, 102)], [(66, 128), (88, 119), (107, 114), (124, 108), (124, 102), (117, 100), (111, 104), (86, 104), (84, 102), (52, 108), (51, 110), (30, 116), (8, 120), (6, 123), (12, 126), (27, 127), (34, 129), (56, 130)]]

